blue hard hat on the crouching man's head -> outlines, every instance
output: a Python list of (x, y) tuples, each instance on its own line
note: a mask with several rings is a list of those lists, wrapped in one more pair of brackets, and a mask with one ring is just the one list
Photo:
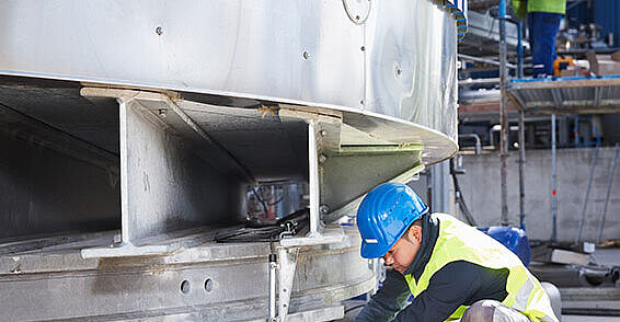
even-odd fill
[(375, 187), (357, 209), (361, 257), (383, 256), (409, 226), (426, 212), (428, 206), (404, 184), (384, 183)]

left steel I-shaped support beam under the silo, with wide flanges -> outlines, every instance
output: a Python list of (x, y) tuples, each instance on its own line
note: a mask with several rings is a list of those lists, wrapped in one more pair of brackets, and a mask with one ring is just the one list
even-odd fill
[(214, 141), (167, 95), (106, 89), (83, 89), (82, 94), (116, 96), (120, 118), (122, 243), (85, 249), (84, 257), (169, 253), (181, 244), (151, 242), (243, 210), (238, 205), (244, 205), (244, 196), (234, 193), (243, 183), (206, 161), (199, 147), (213, 147)]

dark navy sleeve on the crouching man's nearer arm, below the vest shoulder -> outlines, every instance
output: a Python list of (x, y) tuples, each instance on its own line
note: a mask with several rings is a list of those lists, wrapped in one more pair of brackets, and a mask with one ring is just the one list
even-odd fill
[(394, 321), (445, 321), (462, 304), (482, 299), (503, 301), (506, 277), (504, 272), (472, 263), (449, 263), (433, 275), (428, 287)]

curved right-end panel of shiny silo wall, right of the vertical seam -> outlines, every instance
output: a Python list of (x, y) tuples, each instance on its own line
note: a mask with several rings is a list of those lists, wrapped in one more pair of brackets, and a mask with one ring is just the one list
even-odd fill
[(382, 1), (366, 41), (365, 110), (457, 135), (457, 33), (429, 1)]

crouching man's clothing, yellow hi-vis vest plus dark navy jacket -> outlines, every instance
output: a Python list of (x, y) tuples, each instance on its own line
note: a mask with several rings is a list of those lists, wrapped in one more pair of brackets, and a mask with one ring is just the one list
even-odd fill
[[(366, 321), (450, 321), (483, 299), (533, 322), (556, 322), (540, 283), (508, 249), (445, 214), (426, 215), (422, 246), (403, 275), (389, 269), (383, 287), (357, 315)], [(413, 302), (403, 309), (406, 299)]]

